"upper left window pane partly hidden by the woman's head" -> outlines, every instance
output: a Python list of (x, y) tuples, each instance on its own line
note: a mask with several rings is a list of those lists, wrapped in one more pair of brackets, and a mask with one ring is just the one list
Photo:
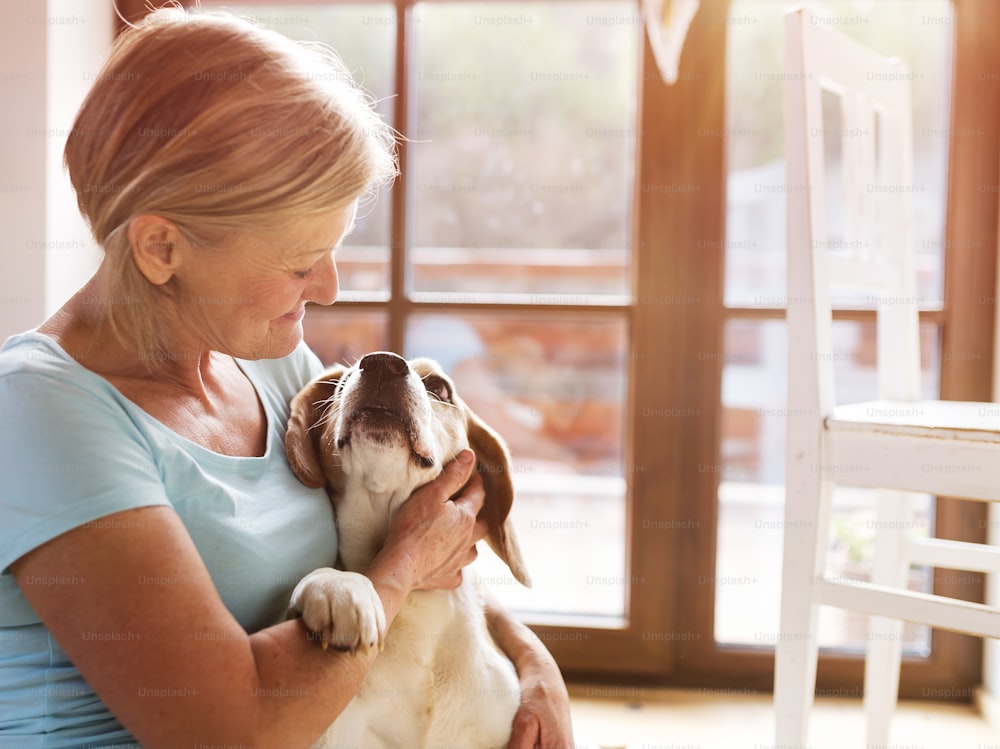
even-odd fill
[[(392, 122), (396, 10), (391, 4), (225, 3), (223, 7), (292, 39), (329, 44), (355, 80), (378, 100), (376, 108), (383, 119)], [(342, 299), (371, 299), (388, 294), (389, 223), (388, 190), (365, 199), (358, 207), (355, 229), (337, 252)]]

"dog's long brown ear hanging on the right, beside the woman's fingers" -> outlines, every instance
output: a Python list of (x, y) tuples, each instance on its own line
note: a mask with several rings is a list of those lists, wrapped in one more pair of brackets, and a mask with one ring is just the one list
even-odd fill
[(510, 568), (519, 583), (531, 587), (531, 578), (521, 557), (510, 508), (514, 504), (514, 482), (510, 475), (510, 453), (507, 445), (482, 419), (467, 408), (469, 417), (469, 447), (476, 453), (476, 469), (483, 479), (486, 500), (480, 517), (486, 519), (486, 541)]

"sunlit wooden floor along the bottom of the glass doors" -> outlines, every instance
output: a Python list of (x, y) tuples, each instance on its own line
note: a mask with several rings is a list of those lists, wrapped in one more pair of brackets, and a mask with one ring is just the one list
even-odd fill
[[(767, 694), (571, 685), (570, 697), (587, 749), (785, 749)], [(971, 705), (906, 702), (889, 743), (866, 748), (859, 701), (817, 700), (808, 749), (855, 748), (1000, 749), (1000, 731)]]

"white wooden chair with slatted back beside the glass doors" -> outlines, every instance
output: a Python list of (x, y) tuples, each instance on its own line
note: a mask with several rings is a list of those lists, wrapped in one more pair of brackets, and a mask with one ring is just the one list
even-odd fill
[[(1000, 418), (995, 405), (920, 400), (905, 63), (875, 54), (807, 10), (791, 11), (785, 20), (788, 463), (776, 744), (807, 745), (817, 614), (832, 606), (869, 615), (868, 746), (887, 746), (902, 621), (1000, 637), (1000, 610), (906, 589), (912, 564), (997, 571), (998, 550), (901, 531), (914, 527), (913, 492), (1000, 500)], [(839, 132), (824, 131), (824, 90), (839, 97)], [(835, 242), (827, 230), (824, 164), (824, 139), (832, 137), (840, 138), (845, 192), (844, 233)], [(835, 287), (860, 290), (876, 306), (880, 400), (836, 403)], [(835, 483), (879, 490), (871, 582), (828, 573)]]

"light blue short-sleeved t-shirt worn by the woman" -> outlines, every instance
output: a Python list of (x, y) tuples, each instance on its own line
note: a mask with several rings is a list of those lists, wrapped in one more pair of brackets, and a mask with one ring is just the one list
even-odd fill
[[(289, 400), (319, 359), (300, 345), (237, 364), (267, 414), (262, 457), (220, 455), (178, 435), (40, 333), (0, 349), (0, 749), (137, 746), (10, 574), (46, 541), (85, 523), (126, 523), (113, 514), (122, 510), (172, 506), (248, 632), (284, 618), (298, 580), (334, 563), (330, 502), (298, 481), (284, 447)], [(50, 584), (71, 585), (66, 576)]]

